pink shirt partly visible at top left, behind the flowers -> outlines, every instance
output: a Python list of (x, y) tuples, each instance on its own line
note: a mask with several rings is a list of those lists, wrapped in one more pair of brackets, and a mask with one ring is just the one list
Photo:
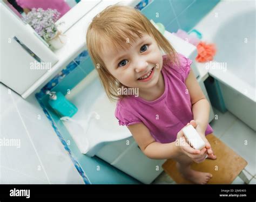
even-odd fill
[(16, 2), (22, 8), (30, 10), (32, 8), (56, 9), (60, 12), (60, 17), (70, 10), (70, 6), (64, 0), (16, 0)]

